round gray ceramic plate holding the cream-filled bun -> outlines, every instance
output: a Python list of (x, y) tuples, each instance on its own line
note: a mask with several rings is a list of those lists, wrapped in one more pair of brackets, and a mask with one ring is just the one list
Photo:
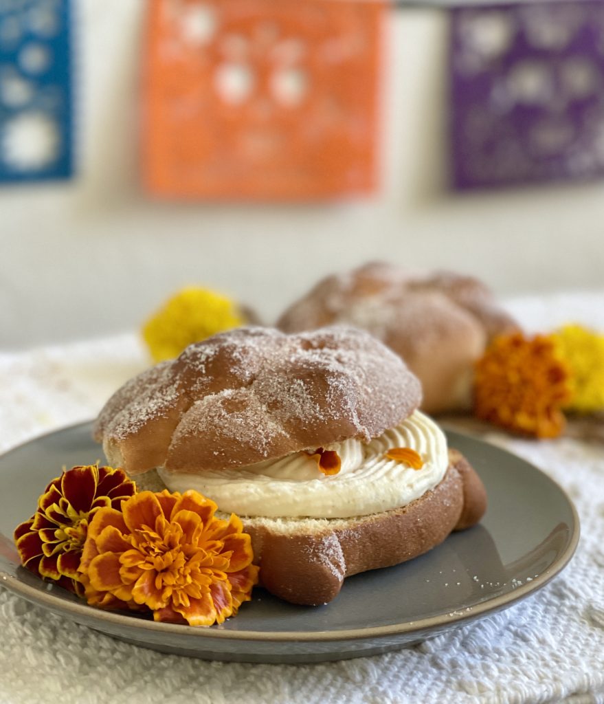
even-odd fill
[(94, 463), (90, 425), (35, 439), (0, 458), (0, 580), (62, 617), (139, 646), (210, 660), (317, 662), (373, 655), (506, 608), (565, 567), (579, 539), (570, 499), (535, 467), (449, 432), (489, 494), (482, 523), (426, 555), (346, 580), (329, 605), (300, 607), (261, 589), (220, 627), (195, 629), (91, 608), (18, 564), (13, 528), (63, 465)]

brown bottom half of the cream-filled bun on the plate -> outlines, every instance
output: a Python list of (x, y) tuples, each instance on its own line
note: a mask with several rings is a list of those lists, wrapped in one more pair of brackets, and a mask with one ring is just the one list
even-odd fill
[(334, 599), (358, 572), (397, 565), (439, 545), (453, 530), (477, 523), (486, 510), (486, 492), (458, 451), (441, 483), (404, 508), (351, 520), (308, 522), (285, 529), (270, 520), (243, 519), (251, 534), (260, 582), (291, 603), (317, 605)]

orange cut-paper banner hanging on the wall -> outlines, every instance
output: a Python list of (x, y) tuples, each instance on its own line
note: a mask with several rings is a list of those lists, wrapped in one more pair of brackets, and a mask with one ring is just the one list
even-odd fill
[(153, 0), (144, 176), (157, 195), (375, 187), (381, 3)]

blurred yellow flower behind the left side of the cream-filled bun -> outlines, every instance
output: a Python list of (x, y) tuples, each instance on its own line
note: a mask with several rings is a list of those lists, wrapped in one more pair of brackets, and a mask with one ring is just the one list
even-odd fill
[(246, 322), (237, 304), (226, 296), (187, 287), (172, 296), (143, 327), (153, 360), (180, 355), (185, 347)]

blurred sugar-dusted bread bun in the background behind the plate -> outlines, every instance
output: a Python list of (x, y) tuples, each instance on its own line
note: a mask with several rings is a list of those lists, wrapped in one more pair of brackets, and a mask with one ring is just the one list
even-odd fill
[(334, 323), (365, 329), (399, 354), (422, 382), (426, 413), (469, 407), (474, 362), (493, 337), (518, 329), (478, 279), (389, 263), (323, 279), (277, 327), (300, 332)]

